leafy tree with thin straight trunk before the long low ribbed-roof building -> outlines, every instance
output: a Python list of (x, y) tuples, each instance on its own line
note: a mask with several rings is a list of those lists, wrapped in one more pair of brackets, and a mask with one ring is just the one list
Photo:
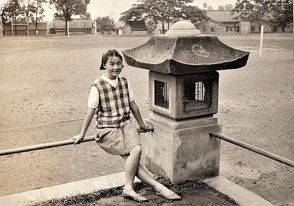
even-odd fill
[(65, 20), (65, 35), (67, 35), (67, 22), (71, 21), (71, 16), (78, 15), (81, 18), (90, 18), (87, 6), (90, 0), (50, 0), (56, 9), (54, 17)]

